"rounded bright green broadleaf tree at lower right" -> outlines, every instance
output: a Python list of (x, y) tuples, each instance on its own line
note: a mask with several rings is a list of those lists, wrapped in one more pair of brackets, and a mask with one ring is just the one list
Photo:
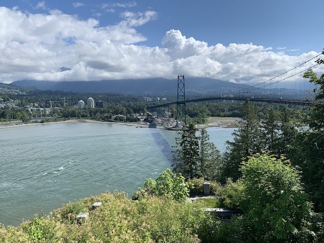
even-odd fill
[[(241, 209), (255, 230), (256, 242), (300, 242), (312, 238), (312, 214), (300, 172), (284, 157), (256, 154), (242, 163)], [(311, 240), (303, 241), (310, 242)]]

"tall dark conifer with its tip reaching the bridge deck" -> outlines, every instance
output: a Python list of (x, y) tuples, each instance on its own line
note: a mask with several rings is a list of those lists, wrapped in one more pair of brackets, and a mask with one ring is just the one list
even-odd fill
[(222, 182), (227, 178), (236, 181), (241, 177), (239, 166), (242, 160), (247, 159), (263, 148), (260, 130), (260, 118), (257, 115), (257, 108), (247, 100), (241, 107), (242, 121), (239, 128), (232, 135), (234, 141), (226, 141), (227, 148), (224, 153), (224, 165), (222, 167)]

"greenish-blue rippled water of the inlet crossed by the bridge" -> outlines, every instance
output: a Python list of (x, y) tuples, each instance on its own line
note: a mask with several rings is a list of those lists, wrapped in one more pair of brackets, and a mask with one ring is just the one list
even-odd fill
[[(224, 151), (233, 129), (209, 128)], [(171, 166), (177, 132), (116, 124), (39, 124), (0, 129), (0, 222), (60, 208), (106, 190), (131, 196)]]

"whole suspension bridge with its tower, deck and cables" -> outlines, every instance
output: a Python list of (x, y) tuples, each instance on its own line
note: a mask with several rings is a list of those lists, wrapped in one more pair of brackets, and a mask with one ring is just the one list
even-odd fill
[[(267, 103), (282, 103), (282, 104), (295, 104), (295, 105), (314, 105), (314, 104), (324, 104), (324, 101), (319, 101), (319, 100), (311, 100), (306, 98), (282, 98), (282, 97), (246, 97), (244, 95), (241, 94), (245, 94), (245, 93), (253, 93), (256, 92), (257, 90), (260, 89), (265, 89), (265, 87), (269, 87), (273, 84), (278, 84), (279, 82), (285, 82), (285, 80), (292, 78), (293, 76), (296, 75), (300, 75), (301, 73), (304, 73), (305, 71), (307, 71), (308, 69), (312, 69), (314, 67), (316, 67), (317, 65), (319, 65), (318, 60), (316, 61), (316, 64), (308, 66), (305, 69), (302, 69), (298, 72), (295, 71), (294, 74), (291, 75), (287, 75), (288, 73), (291, 73), (291, 71), (296, 70), (297, 68), (301, 67), (302, 65), (305, 65), (306, 63), (310, 62), (311, 60), (317, 58), (319, 55), (321, 55), (322, 53), (316, 55), (315, 57), (299, 64), (298, 66), (291, 68), (283, 73), (280, 73), (272, 78), (269, 78), (267, 80), (265, 80), (264, 82), (258, 83), (254, 86), (250, 86), (248, 88), (244, 88), (244, 89), (238, 89), (236, 92), (231, 92), (228, 94), (216, 94), (213, 97), (204, 97), (204, 98), (195, 98), (195, 99), (188, 99), (186, 100), (185, 98), (185, 79), (184, 79), (184, 75), (178, 75), (178, 79), (177, 79), (177, 100), (174, 102), (169, 102), (169, 103), (161, 103), (161, 104), (157, 104), (157, 105), (152, 105), (152, 106), (147, 106), (147, 109), (154, 109), (154, 108), (158, 108), (158, 107), (168, 107), (170, 105), (176, 105), (177, 109), (176, 109), (176, 127), (179, 126), (178, 121), (183, 120), (184, 124), (187, 124), (186, 121), (186, 103), (196, 103), (196, 102), (204, 102), (204, 101), (246, 101), (246, 100), (250, 100), (250, 101), (255, 101), (255, 102), (267, 102)], [(283, 77), (285, 75), (285, 77)]]

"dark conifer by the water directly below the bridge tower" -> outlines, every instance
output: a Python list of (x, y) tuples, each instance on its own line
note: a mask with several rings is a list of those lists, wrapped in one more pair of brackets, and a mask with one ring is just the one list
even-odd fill
[(173, 172), (181, 173), (186, 178), (193, 178), (198, 168), (199, 142), (193, 124), (183, 128), (176, 138), (176, 150), (173, 154)]

